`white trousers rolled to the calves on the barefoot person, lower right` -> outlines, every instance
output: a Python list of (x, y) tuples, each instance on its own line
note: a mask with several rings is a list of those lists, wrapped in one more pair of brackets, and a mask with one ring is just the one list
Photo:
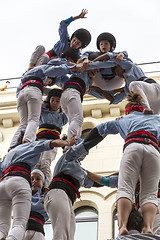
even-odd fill
[(140, 176), (140, 206), (146, 203), (157, 206), (159, 175), (159, 152), (150, 144), (131, 143), (124, 150), (120, 163), (117, 200), (125, 197), (133, 201)]

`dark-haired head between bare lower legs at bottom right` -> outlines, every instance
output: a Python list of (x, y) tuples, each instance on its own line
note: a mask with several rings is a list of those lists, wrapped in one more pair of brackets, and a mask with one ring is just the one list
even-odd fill
[(131, 213), (128, 217), (127, 229), (128, 231), (137, 230), (141, 233), (143, 226), (144, 226), (143, 217), (141, 213), (135, 209), (135, 205), (133, 205)]

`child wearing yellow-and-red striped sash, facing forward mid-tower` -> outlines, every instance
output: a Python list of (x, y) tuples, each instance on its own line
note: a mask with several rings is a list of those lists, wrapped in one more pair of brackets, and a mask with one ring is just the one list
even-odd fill
[[(42, 111), (39, 120), (39, 129), (37, 131), (38, 140), (60, 139), (62, 128), (67, 124), (68, 119), (61, 111), (60, 98), (62, 90), (52, 89), (42, 104)], [(41, 154), (40, 161), (36, 168), (40, 169), (45, 175), (44, 187), (47, 188), (51, 181), (51, 163), (55, 160), (57, 148), (51, 151), (44, 151)]]

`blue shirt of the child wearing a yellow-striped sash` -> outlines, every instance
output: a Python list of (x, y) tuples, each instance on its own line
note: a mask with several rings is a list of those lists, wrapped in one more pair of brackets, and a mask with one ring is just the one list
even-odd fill
[(39, 119), (39, 125), (41, 124), (53, 124), (59, 127), (61, 130), (63, 126), (68, 122), (65, 113), (58, 111), (50, 111), (48, 108), (42, 108), (42, 112)]

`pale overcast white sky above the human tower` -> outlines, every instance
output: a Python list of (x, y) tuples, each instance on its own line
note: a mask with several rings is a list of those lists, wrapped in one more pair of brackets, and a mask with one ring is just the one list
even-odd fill
[[(85, 50), (96, 51), (98, 35), (110, 32), (116, 37), (115, 51), (127, 51), (133, 62), (160, 61), (160, 0), (0, 0), (0, 79), (22, 76), (35, 47), (50, 50), (59, 40), (60, 21), (82, 9), (88, 10), (87, 18), (72, 22), (68, 32), (90, 31)], [(143, 70), (153, 66), (160, 70), (160, 64)]]

